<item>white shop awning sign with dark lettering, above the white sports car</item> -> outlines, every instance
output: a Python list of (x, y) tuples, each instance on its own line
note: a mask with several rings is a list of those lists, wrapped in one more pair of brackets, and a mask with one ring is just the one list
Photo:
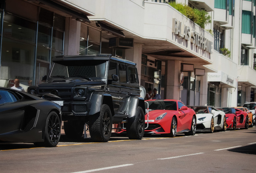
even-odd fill
[(208, 82), (222, 82), (231, 87), (236, 88), (237, 83), (235, 82), (235, 78), (225, 72), (209, 72), (208, 73)]

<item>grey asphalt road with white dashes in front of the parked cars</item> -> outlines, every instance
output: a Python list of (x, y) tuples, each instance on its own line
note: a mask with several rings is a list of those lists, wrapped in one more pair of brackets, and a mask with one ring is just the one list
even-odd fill
[(75, 142), (62, 135), (58, 147), (0, 144), (1, 173), (255, 173), (256, 128), (215, 133), (111, 137), (107, 143)]

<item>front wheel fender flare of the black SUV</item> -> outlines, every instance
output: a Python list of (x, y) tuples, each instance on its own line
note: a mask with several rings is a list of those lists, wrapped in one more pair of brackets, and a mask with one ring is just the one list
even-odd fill
[(103, 94), (100, 92), (93, 92), (90, 98), (91, 109), (89, 111), (89, 115), (94, 115), (98, 113), (101, 109), (101, 105), (106, 104), (109, 106), (111, 110), (112, 116), (114, 115), (114, 105), (112, 101), (112, 97), (109, 94)]

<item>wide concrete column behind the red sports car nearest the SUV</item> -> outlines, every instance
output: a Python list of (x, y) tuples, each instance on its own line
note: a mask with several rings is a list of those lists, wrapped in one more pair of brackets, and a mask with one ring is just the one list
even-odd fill
[(165, 62), (165, 99), (180, 100), (180, 64), (179, 60)]

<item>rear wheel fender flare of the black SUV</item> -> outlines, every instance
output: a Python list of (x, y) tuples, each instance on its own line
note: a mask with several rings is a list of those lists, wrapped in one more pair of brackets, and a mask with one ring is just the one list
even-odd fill
[(134, 117), (136, 115), (138, 107), (142, 108), (144, 114), (146, 113), (144, 99), (136, 96), (131, 96), (129, 105), (127, 107), (127, 114), (129, 114), (130, 117)]

